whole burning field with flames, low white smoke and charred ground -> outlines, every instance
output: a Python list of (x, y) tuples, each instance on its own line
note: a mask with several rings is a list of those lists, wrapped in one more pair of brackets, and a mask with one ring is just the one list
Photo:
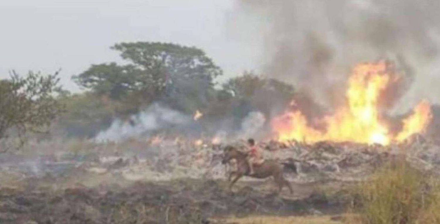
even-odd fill
[[(385, 165), (440, 174), (432, 106), (422, 100), (392, 113), (403, 82), (393, 63), (366, 62), (353, 67), (342, 103), (326, 112), (307, 112), (307, 102), (293, 99), (272, 118), (251, 111), (231, 129), (230, 120), (202, 110), (153, 104), (92, 139), (29, 141), (0, 154), (0, 222), (231, 224), (275, 215), (350, 223), (353, 187)], [(249, 137), (263, 158), (295, 167), (284, 170), (293, 194), (246, 177), (227, 190), (236, 164), (221, 163), (224, 148), (245, 148)]]

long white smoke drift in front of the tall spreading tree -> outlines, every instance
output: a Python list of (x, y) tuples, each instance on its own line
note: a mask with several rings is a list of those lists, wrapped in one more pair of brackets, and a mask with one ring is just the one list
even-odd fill
[(154, 103), (141, 113), (133, 115), (129, 121), (114, 120), (109, 129), (98, 133), (95, 141), (117, 142), (131, 137), (147, 135), (149, 132), (171, 127), (172, 125), (185, 125), (191, 121), (189, 115)]

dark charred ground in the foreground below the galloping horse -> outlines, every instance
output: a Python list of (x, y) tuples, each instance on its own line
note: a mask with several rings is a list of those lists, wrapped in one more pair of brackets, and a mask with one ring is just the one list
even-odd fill
[(340, 182), (293, 187), (293, 195), (287, 189), (276, 195), (270, 180), (239, 181), (233, 192), (223, 180), (187, 179), (64, 189), (3, 187), (0, 223), (218, 223), (227, 216), (339, 214), (349, 202), (346, 192), (338, 190), (344, 188)]

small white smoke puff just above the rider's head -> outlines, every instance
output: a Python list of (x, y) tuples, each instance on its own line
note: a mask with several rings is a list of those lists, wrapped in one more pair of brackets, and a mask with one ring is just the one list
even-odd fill
[(250, 138), (255, 135), (263, 128), (266, 118), (264, 114), (260, 111), (252, 111), (243, 119), (242, 128), (239, 136), (241, 138)]

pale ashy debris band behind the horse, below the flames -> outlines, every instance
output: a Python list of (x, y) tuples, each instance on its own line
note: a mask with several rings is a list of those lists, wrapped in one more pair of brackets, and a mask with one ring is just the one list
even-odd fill
[[(246, 141), (231, 143), (242, 147)], [(87, 145), (84, 145), (87, 146)], [(223, 144), (224, 146), (224, 144)], [(292, 163), (299, 175), (286, 173), (290, 181), (309, 183), (321, 180), (361, 180), (375, 167), (397, 156), (419, 169), (432, 170), (440, 165), (439, 146), (420, 135), (408, 143), (381, 146), (360, 143), (319, 142), (312, 145), (289, 141), (260, 142), (264, 158)], [(123, 150), (122, 150), (123, 149)], [(3, 173), (23, 177), (69, 178), (75, 173), (117, 175), (127, 181), (169, 181), (175, 179), (223, 179), (222, 143), (213, 139), (132, 139), (122, 143), (96, 143), (81, 151), (57, 151), (37, 157), (0, 155)], [(75, 174), (75, 175), (74, 175)]]

